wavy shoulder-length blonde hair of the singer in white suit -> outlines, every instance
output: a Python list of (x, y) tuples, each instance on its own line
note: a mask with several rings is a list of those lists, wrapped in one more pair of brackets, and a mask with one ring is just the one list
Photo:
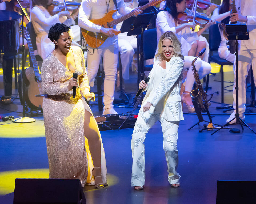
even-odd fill
[(160, 37), (158, 42), (158, 53), (155, 54), (155, 59), (158, 61), (165, 60), (165, 56), (162, 53), (163, 41), (165, 39), (169, 39), (173, 43), (173, 52), (174, 52), (173, 57), (180, 57), (184, 61), (184, 56), (181, 53), (181, 43), (178, 40), (177, 36), (171, 31), (167, 31), (163, 33), (163, 35)]

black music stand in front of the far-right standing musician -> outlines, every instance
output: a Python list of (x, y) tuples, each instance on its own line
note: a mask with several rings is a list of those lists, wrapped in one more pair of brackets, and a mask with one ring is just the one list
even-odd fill
[[(233, 120), (236, 120), (235, 124), (240, 124), (242, 129), (243, 125), (248, 127), (251, 131), (253, 131), (240, 117), (239, 117), (239, 110), (238, 110), (238, 41), (237, 40), (248, 40), (249, 39), (249, 32), (246, 25), (226, 25), (226, 33), (228, 40), (235, 40), (235, 80), (236, 80), (236, 87), (235, 87), (235, 94), (236, 94), (236, 113), (235, 117), (227, 122), (225, 125), (221, 126), (218, 130), (214, 131), (211, 135), (219, 131), (225, 126), (230, 125), (229, 123)], [(256, 134), (253, 131), (254, 134)]]

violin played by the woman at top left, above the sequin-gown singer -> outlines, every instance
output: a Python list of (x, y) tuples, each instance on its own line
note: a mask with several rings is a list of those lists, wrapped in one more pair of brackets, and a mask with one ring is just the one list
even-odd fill
[[(80, 3), (75, 2), (75, 1), (68, 1), (66, 3), (66, 9), (67, 11), (72, 11), (73, 13), (76, 12), (79, 7)], [(59, 1), (53, 1), (51, 5), (47, 6), (48, 12), (53, 16), (57, 14), (58, 12), (65, 11), (65, 3), (60, 3)]]

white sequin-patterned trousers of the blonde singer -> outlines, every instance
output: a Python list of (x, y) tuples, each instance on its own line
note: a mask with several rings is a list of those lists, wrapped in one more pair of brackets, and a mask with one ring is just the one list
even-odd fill
[[(152, 108), (153, 106), (151, 106)], [(154, 108), (154, 107), (153, 107)], [(163, 149), (168, 166), (168, 181), (170, 184), (179, 184), (180, 175), (177, 173), (178, 167), (178, 128), (179, 121), (167, 121), (163, 113), (153, 113), (154, 109), (143, 112), (139, 111), (137, 121), (134, 126), (131, 149), (133, 154), (133, 169), (131, 186), (142, 186), (145, 184), (145, 149), (144, 140), (149, 129), (160, 120), (163, 131)], [(154, 142), (154, 141), (152, 141)]]

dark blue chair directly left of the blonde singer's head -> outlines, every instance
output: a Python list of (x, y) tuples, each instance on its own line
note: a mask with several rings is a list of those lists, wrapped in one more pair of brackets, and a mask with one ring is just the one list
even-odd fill
[[(138, 36), (138, 53), (141, 53), (141, 35)], [(157, 49), (157, 29), (149, 29), (144, 31), (143, 35), (143, 54), (144, 54), (144, 60), (153, 59), (155, 57), (155, 51)], [(140, 59), (140, 58), (139, 58)], [(143, 70), (144, 71), (151, 71), (153, 68), (152, 65), (144, 65), (143, 62)], [(141, 73), (141, 67), (140, 62), (138, 60), (138, 75)]]

